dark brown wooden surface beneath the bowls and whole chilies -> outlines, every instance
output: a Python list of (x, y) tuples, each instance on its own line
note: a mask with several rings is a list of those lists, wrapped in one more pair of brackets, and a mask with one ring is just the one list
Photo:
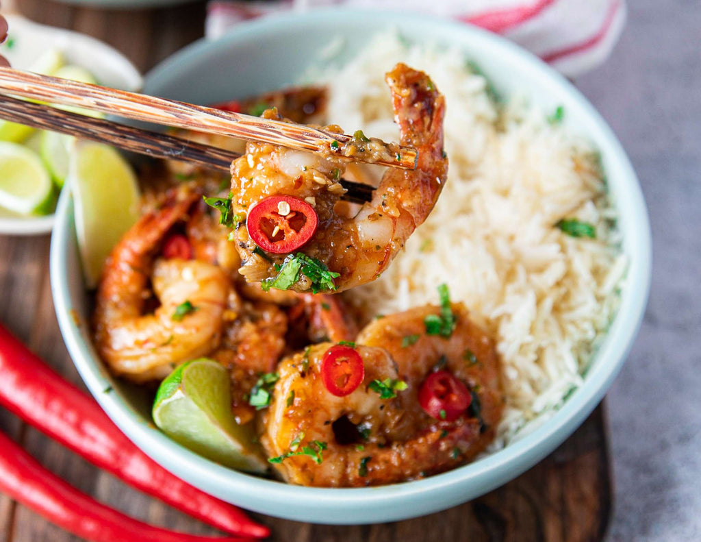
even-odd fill
[[(203, 2), (168, 9), (111, 11), (21, 0), (17, 8), (37, 22), (76, 29), (106, 41), (142, 72), (198, 39), (205, 15)], [(48, 276), (49, 241), (48, 235), (0, 236), (0, 322), (69, 380), (82, 385), (55, 319)], [(1, 409), (0, 429), (81, 491), (133, 517), (170, 529), (215, 533), (100, 472)], [(536, 467), (482, 498), (442, 513), (354, 527), (254, 516), (273, 529), (275, 541), (584, 542), (601, 540), (610, 505), (605, 414), (599, 406), (570, 439)], [(0, 495), (0, 542), (76, 540)]]

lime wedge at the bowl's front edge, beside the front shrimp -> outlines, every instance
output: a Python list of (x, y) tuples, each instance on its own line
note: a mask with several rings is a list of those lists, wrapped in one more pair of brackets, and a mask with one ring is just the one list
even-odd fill
[(228, 467), (264, 472), (251, 425), (231, 415), (231, 378), (221, 364), (195, 359), (165, 378), (154, 401), (154, 422), (184, 447)]

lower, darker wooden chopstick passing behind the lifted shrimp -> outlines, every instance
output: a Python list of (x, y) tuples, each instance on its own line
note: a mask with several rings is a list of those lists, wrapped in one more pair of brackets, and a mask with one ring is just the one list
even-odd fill
[[(240, 157), (240, 154), (236, 152), (202, 145), (165, 133), (142, 130), (105, 119), (86, 117), (4, 95), (0, 95), (0, 119), (43, 130), (76, 135), (79, 138), (98, 143), (107, 143), (107, 145), (137, 154), (145, 154), (151, 158), (181, 160), (227, 172), (231, 162)], [(340, 182), (348, 190), (346, 194), (343, 194), (343, 199), (363, 203), (372, 197), (373, 189), (371, 186), (346, 179), (341, 179)]]

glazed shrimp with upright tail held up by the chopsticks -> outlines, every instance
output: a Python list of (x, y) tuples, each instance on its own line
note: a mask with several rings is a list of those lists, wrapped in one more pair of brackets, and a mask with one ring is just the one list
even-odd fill
[[(337, 157), (249, 143), (247, 153), (233, 162), (232, 206), (237, 215), (247, 216), (266, 197), (283, 195), (304, 200), (318, 217), (312, 237), (299, 250), (294, 249), (297, 252), (282, 254), (262, 252), (250, 237), (252, 227), (264, 226), (250, 220), (238, 223), (240, 273), (247, 281), (299, 292), (342, 291), (371, 282), (386, 270), (409, 235), (426, 220), (447, 177), (444, 99), (426, 74), (403, 64), (395, 66), (386, 80), (400, 126), (400, 143), (418, 150), (418, 164), (413, 171), (388, 168), (372, 201), (355, 216), (343, 216), (336, 205), (345, 192), (339, 179), (346, 165)], [(268, 117), (274, 116), (271, 111), (267, 113)], [(327, 129), (340, 131), (338, 126)], [(362, 147), (365, 136), (361, 132), (356, 138)], [(278, 207), (278, 215), (273, 219), (287, 221), (284, 227), (265, 233), (274, 242), (284, 240), (289, 227), (301, 227), (294, 220), (306, 223), (285, 206)], [(314, 272), (300, 265), (301, 256), (317, 273), (328, 273), (324, 275), (327, 280), (319, 282)], [(298, 258), (296, 263), (294, 258)], [(280, 277), (285, 280), (276, 280)]]

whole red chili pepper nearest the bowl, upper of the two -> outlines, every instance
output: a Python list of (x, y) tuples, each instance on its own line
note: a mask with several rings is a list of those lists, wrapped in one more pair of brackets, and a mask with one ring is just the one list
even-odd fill
[(270, 534), (270, 529), (250, 520), (242, 510), (192, 487), (152, 461), (92, 397), (56, 374), (3, 326), (0, 403), (97, 467), (198, 520), (240, 536)]

